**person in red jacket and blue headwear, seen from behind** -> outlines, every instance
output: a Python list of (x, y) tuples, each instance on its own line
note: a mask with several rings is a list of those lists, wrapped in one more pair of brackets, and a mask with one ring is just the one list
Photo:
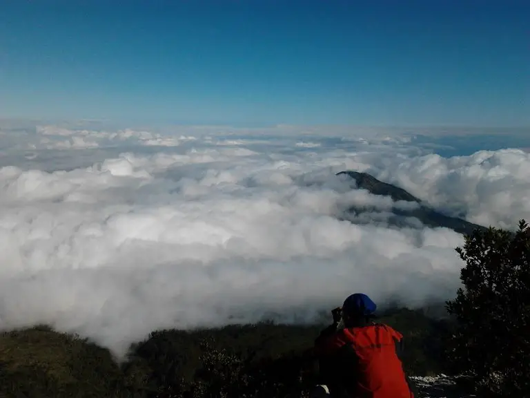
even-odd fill
[(373, 321), (376, 308), (369, 296), (355, 293), (332, 311), (333, 323), (313, 348), (320, 377), (313, 397), (418, 397), (400, 359), (403, 336)]

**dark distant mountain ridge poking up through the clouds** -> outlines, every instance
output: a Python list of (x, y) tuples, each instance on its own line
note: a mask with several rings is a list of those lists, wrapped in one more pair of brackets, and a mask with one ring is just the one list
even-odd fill
[[(387, 184), (377, 180), (377, 178), (371, 176), (368, 173), (359, 173), (358, 171), (341, 171), (337, 173), (337, 176), (340, 175), (350, 176), (357, 182), (358, 189), (366, 189), (373, 195), (380, 196), (390, 196), (394, 201), (404, 200), (406, 202), (417, 202), (418, 207), (415, 209), (397, 209), (392, 210), (393, 215), (389, 218), (388, 222), (391, 225), (397, 225), (400, 227), (414, 225), (413, 218), (417, 218), (422, 222), (423, 225), (428, 227), (445, 227), (453, 229), (453, 231), (458, 232), (459, 234), (471, 234), (475, 229), (487, 229), (482, 225), (473, 224), (462, 218), (456, 218), (451, 216), (446, 216), (445, 214), (436, 211), (429, 205), (426, 205), (422, 200), (411, 195), (411, 193), (405, 191), (400, 187), (396, 187), (392, 184)], [(349, 219), (353, 222), (355, 220), (362, 220), (362, 214), (366, 213), (369, 209), (365, 207), (351, 207), (349, 213), (351, 216), (354, 216), (353, 219), (346, 216), (346, 219)], [(360, 218), (361, 217), (361, 218)]]

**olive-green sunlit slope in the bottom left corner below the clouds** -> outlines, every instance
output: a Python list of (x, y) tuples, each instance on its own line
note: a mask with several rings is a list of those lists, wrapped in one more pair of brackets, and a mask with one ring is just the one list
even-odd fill
[(46, 326), (0, 335), (0, 397), (134, 397), (128, 387), (110, 352), (86, 339)]

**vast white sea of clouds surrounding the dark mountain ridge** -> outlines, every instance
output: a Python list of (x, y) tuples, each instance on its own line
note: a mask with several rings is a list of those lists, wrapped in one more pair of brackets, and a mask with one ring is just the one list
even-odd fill
[[(344, 170), (481, 225), (530, 220), (520, 149), (442, 158), (410, 134), (293, 126), (4, 126), (0, 328), (47, 323), (123, 354), (157, 328), (311, 321), (357, 291), (451, 299), (462, 236), (389, 228), (407, 204), (352, 189)], [(341, 220), (352, 205), (373, 222)]]

